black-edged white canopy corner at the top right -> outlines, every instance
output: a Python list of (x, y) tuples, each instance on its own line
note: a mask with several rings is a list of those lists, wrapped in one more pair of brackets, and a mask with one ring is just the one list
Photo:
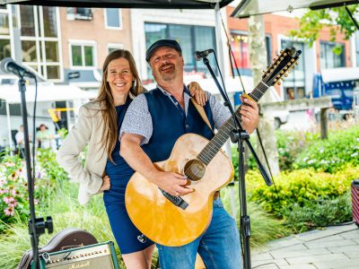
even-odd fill
[(349, 4), (359, 4), (358, 0), (242, 0), (234, 9), (231, 17), (248, 18), (251, 15), (276, 12), (292, 12), (294, 9), (310, 8), (312, 10)]

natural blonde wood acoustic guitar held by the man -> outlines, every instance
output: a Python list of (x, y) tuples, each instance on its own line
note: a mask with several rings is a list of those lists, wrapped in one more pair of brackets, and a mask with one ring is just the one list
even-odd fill
[[(268, 67), (257, 87), (244, 96), (258, 101), (270, 86), (287, 76), (302, 52), (285, 48)], [(240, 108), (235, 111), (240, 117)], [(186, 175), (193, 193), (173, 196), (136, 172), (130, 178), (125, 203), (127, 213), (138, 230), (154, 242), (179, 247), (197, 239), (208, 227), (215, 191), (231, 182), (232, 161), (221, 147), (228, 140), (234, 122), (229, 118), (211, 141), (198, 134), (183, 134), (166, 161), (156, 162), (163, 171)]]

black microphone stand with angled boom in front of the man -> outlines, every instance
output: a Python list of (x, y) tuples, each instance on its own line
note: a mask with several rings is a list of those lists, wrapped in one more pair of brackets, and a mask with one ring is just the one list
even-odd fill
[[(244, 173), (244, 142), (247, 143), (248, 147), (250, 148), (250, 152), (253, 154), (254, 159), (258, 164), (258, 169), (266, 181), (267, 186), (271, 186), (273, 182), (267, 175), (267, 171), (264, 166), (260, 163), (257, 153), (254, 151), (251, 143), (250, 143), (250, 134), (248, 134), (242, 127), (241, 123), (236, 117), (234, 110), (231, 105), (231, 101), (228, 99), (228, 96), (225, 91), (223, 91), (221, 84), (218, 82), (215, 73), (209, 64), (209, 60), (206, 56), (203, 57), (203, 63), (207, 66), (209, 73), (212, 75), (213, 79), (215, 80), (215, 84), (220, 91), (223, 100), (224, 106), (229, 108), (235, 129), (231, 132), (231, 141), (232, 143), (237, 143), (237, 151), (239, 152), (239, 195), (241, 199), (241, 237), (243, 240), (243, 265), (244, 269), (250, 269), (250, 216), (247, 213), (247, 200), (246, 200), (246, 184), (245, 184), (245, 173)], [(219, 68), (219, 66), (218, 66)], [(224, 85), (223, 85), (224, 86)]]

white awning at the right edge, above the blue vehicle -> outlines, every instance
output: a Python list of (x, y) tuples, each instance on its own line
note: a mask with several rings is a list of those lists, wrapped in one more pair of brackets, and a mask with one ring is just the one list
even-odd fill
[(324, 83), (359, 81), (358, 67), (340, 67), (340, 68), (322, 69), (320, 71), (320, 74)]

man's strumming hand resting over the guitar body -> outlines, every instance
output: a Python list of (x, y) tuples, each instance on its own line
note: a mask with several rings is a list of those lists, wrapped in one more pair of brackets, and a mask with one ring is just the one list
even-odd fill
[(158, 171), (153, 183), (170, 195), (187, 195), (194, 191), (193, 188), (186, 187), (187, 177), (174, 172)]

